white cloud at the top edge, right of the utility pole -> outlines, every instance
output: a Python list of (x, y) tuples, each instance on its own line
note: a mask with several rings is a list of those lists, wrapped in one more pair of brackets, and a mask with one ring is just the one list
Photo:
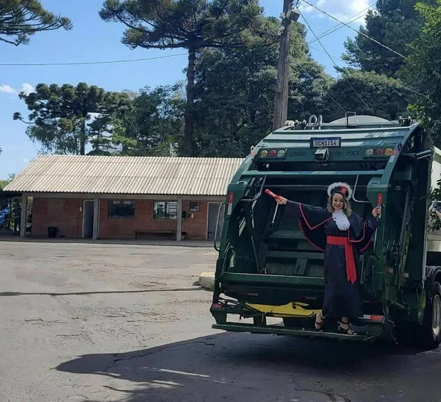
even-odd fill
[[(365, 22), (365, 15), (367, 14), (367, 8), (373, 3), (373, 1), (369, 0), (318, 0), (312, 1), (311, 4), (314, 4), (318, 8), (323, 11), (326, 11), (328, 14), (331, 14), (336, 19), (339, 19), (343, 22), (348, 22), (348, 20), (353, 20), (353, 23), (359, 25), (360, 23)], [(373, 7), (372, 7), (373, 8)], [(371, 9), (372, 9), (371, 8)], [(322, 12), (318, 11), (316, 8), (311, 7), (305, 3), (300, 7), (300, 11), (305, 13), (314, 12), (314, 14), (324, 16)], [(327, 17), (331, 19), (330, 17)], [(332, 21), (337, 21), (332, 19)]]

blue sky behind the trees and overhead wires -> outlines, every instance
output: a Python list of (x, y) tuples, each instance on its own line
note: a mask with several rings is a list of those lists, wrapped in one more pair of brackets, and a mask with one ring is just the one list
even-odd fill
[[(185, 50), (130, 50), (121, 43), (123, 25), (101, 21), (98, 11), (102, 0), (41, 0), (43, 6), (66, 17), (70, 17), (74, 28), (70, 31), (56, 30), (39, 32), (28, 45), (12, 46), (0, 42), (0, 63), (66, 63), (87, 61), (110, 61), (137, 58), (163, 57), (185, 53)], [(365, 13), (375, 0), (309, 0), (338, 19), (349, 19), (359, 12)], [(283, 0), (261, 0), (267, 15), (278, 16)], [(320, 34), (336, 26), (337, 22), (310, 6), (300, 6), (311, 28)], [(360, 16), (362, 17), (362, 14)], [(358, 28), (362, 18), (351, 23)], [(343, 43), (355, 32), (343, 27), (322, 39), (323, 45), (333, 56), (344, 52)], [(308, 32), (308, 39), (314, 39)], [(331, 61), (324, 54), (320, 44), (311, 45), (314, 59), (334, 74)], [(26, 125), (12, 121), (14, 112), (27, 116), (28, 110), (17, 93), (32, 90), (38, 83), (86, 82), (105, 90), (139, 90), (145, 86), (155, 87), (175, 83), (185, 78), (183, 69), (187, 63), (185, 54), (150, 61), (115, 63), (92, 66), (0, 66), (0, 179), (8, 174), (19, 173), (39, 152), (39, 144), (32, 143), (25, 134)], [(344, 63), (336, 59), (342, 66)], [(295, 118), (295, 117), (291, 117)]]

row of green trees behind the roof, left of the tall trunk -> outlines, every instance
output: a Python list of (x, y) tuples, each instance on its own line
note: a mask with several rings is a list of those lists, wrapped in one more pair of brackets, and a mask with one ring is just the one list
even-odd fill
[[(139, 92), (39, 84), (36, 92), (19, 96), (31, 111), (27, 134), (46, 152), (169, 156), (182, 132), (181, 84)], [(19, 113), (14, 119), (24, 121)]]

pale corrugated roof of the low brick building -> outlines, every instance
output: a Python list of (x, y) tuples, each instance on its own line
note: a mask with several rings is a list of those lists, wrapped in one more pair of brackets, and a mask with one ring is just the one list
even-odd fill
[(39, 155), (5, 191), (225, 195), (243, 159)]

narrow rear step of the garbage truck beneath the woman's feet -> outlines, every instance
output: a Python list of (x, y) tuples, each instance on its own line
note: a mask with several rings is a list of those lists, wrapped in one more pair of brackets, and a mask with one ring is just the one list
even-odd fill
[(224, 330), (229, 332), (251, 332), (253, 334), (276, 334), (285, 336), (307, 336), (310, 338), (328, 338), (328, 339), (344, 339), (345, 341), (371, 342), (378, 339), (384, 334), (384, 327), (379, 326), (375, 333), (363, 335), (345, 335), (337, 332), (318, 332), (314, 330), (300, 330), (294, 328), (285, 328), (282, 325), (265, 325), (257, 326), (246, 323), (224, 323), (214, 324), (212, 328), (215, 330)]

